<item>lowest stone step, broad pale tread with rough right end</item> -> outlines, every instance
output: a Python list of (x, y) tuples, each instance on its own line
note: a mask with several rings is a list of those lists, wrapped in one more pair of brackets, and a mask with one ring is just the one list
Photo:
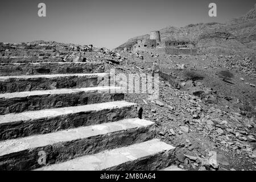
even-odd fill
[(85, 155), (38, 171), (156, 170), (174, 163), (175, 147), (159, 139)]

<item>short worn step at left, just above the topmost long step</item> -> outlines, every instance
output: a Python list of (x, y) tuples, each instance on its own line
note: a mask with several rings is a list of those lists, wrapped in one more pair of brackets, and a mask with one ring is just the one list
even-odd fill
[(0, 63), (59, 63), (63, 62), (63, 58), (59, 56), (2, 56)]

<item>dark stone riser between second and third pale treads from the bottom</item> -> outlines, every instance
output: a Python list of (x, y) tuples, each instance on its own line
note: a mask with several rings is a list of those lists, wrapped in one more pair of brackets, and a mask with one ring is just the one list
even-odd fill
[(2, 123), (0, 124), (0, 140), (27, 137), (35, 134), (53, 133), (59, 130), (97, 125), (100, 123), (115, 122), (121, 119), (137, 117), (137, 105), (133, 105), (114, 109), (60, 115), (53, 118)]

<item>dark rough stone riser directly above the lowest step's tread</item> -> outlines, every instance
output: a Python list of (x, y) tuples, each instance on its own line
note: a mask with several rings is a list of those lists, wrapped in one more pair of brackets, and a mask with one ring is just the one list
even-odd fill
[(55, 143), (44, 147), (31, 148), (15, 154), (0, 156), (0, 170), (28, 170), (44, 166), (38, 163), (39, 151), (46, 154), (46, 164), (65, 162), (83, 155), (95, 154), (104, 150), (129, 146), (154, 138), (151, 126), (139, 127), (90, 138)]

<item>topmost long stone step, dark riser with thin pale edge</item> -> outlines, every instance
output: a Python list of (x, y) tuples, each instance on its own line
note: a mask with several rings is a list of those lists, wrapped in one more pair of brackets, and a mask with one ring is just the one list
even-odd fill
[(0, 76), (103, 73), (104, 63), (0, 63)]

